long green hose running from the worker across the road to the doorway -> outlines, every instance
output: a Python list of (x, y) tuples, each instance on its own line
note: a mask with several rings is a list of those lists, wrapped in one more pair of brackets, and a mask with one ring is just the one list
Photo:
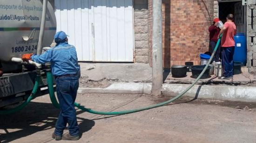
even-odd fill
[[(156, 108), (156, 107), (160, 107), (160, 106), (169, 104), (169, 103), (175, 101), (176, 99), (178, 99), (179, 97), (182, 97), (182, 95), (184, 95), (187, 91), (189, 91), (197, 83), (197, 81), (202, 77), (203, 73), (207, 70), (209, 64), (211, 63), (212, 58), (215, 55), (216, 50), (217, 50), (217, 48), (218, 48), (218, 46), (220, 44), (220, 41), (221, 41), (221, 39), (218, 39), (217, 44), (216, 44), (216, 46), (214, 48), (214, 52), (211, 55), (211, 58), (209, 59), (207, 65), (204, 67), (204, 69), (201, 72), (201, 74), (195, 79), (195, 81), (192, 84), (190, 84), (189, 87), (185, 91), (182, 91), (182, 93), (180, 93), (179, 95), (177, 95), (176, 97), (174, 97), (174, 98), (172, 98), (172, 99), (170, 99), (168, 101), (165, 101), (165, 102), (162, 102), (162, 103), (159, 103), (159, 104), (150, 105), (148, 107), (142, 107), (142, 108), (132, 109), (132, 110), (115, 111), (115, 112), (96, 111), (96, 110), (85, 108), (85, 107), (81, 106), (78, 103), (74, 103), (74, 105), (77, 108), (81, 109), (81, 110), (84, 110), (86, 112), (93, 113), (93, 114), (98, 114), (98, 115), (123, 115), (123, 114), (135, 113), (135, 112), (139, 112), (139, 111), (142, 111), (142, 110), (148, 110), (148, 109), (152, 109), (152, 108)], [(52, 76), (51, 72), (47, 72), (47, 80), (48, 80), (48, 82), (52, 83), (52, 77), (53, 76)], [(58, 104), (58, 102), (56, 100), (56, 97), (54, 96), (54, 90), (51, 89), (51, 90), (49, 90), (49, 92), (50, 92), (51, 100), (54, 101), (53, 102), (54, 107), (59, 107), (60, 105)]]

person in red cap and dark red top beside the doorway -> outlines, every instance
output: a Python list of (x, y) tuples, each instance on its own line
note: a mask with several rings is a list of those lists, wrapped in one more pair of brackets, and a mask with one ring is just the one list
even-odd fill
[[(218, 41), (218, 34), (220, 33), (220, 28), (217, 27), (217, 22), (220, 20), (218, 18), (213, 20), (213, 25), (209, 26), (209, 37), (210, 37), (210, 43), (209, 43), (209, 52), (213, 53), (214, 48)], [(218, 49), (216, 50), (216, 53), (212, 59), (212, 61), (219, 62), (220, 61), (220, 53), (221, 53), (221, 45), (218, 46)]]

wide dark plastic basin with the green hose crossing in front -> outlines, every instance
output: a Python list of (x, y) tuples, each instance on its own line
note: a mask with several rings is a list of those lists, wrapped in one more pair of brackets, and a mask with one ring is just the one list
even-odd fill
[[(191, 66), (190, 69), (192, 71), (192, 78), (197, 78), (202, 70), (204, 69), (206, 65), (194, 65)], [(205, 79), (210, 77), (210, 69), (211, 67), (209, 66), (207, 70), (203, 73), (202, 77), (200, 79)]]

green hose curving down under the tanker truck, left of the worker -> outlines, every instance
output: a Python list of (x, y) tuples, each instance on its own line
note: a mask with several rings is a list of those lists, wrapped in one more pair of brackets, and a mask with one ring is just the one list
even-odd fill
[(24, 103), (22, 103), (21, 105), (15, 107), (15, 108), (12, 108), (12, 109), (9, 109), (9, 110), (0, 110), (0, 115), (13, 114), (14, 112), (20, 111), (20, 110), (22, 110), (24, 107), (26, 107), (27, 104), (28, 104), (31, 100), (34, 99), (35, 93), (37, 92), (38, 87), (39, 87), (39, 83), (40, 83), (40, 76), (36, 76), (33, 91), (32, 91), (32, 93), (31, 93), (31, 95), (27, 98), (27, 100), (26, 100)]

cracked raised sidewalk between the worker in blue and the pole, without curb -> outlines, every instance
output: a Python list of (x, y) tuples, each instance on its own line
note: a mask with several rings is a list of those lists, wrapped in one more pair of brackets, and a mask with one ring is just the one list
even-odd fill
[(99, 81), (104, 78), (123, 82), (148, 83), (152, 80), (152, 68), (148, 64), (119, 63), (79, 63), (81, 75), (88, 80)]

